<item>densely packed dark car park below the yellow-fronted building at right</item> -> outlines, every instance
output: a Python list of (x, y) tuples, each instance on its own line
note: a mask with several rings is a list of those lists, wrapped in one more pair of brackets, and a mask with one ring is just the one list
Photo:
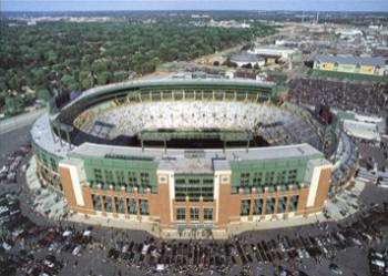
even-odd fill
[(360, 84), (328, 80), (294, 79), (289, 100), (297, 104), (326, 104), (361, 114), (388, 114), (388, 84)]

